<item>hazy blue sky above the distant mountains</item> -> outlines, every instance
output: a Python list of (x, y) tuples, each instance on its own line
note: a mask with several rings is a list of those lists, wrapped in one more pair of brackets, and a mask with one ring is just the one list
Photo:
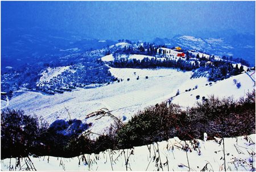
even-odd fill
[(255, 2), (1, 2), (1, 27), (40, 27), (96, 39), (154, 39), (200, 31), (255, 33)]

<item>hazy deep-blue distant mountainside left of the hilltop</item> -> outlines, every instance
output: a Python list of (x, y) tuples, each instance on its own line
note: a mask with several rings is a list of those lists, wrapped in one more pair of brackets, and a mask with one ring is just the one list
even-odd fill
[(117, 42), (88, 39), (76, 33), (42, 28), (15, 28), (1, 31), (1, 63), (19, 68), (24, 64), (50, 61), (70, 53), (101, 49)]

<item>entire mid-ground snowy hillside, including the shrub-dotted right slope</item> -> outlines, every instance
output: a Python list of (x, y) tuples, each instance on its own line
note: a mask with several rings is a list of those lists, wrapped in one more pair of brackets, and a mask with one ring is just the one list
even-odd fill
[[(119, 83), (55, 95), (21, 91), (21, 94), (10, 100), (8, 107), (24, 110), (28, 115), (43, 116), (50, 124), (56, 119), (69, 119), (69, 114), (71, 119), (85, 121), (86, 115), (101, 108), (108, 108), (120, 119), (126, 116), (128, 121), (145, 107), (171, 97), (174, 97), (173, 103), (185, 108), (193, 106), (196, 101), (202, 101), (203, 96), (207, 98), (208, 95), (214, 94), (218, 97), (239, 98), (255, 88), (254, 82), (245, 73), (224, 81), (212, 82), (210, 86), (207, 78), (190, 79), (192, 72), (179, 72), (174, 69), (110, 68), (110, 72), (120, 80)], [(130, 80), (127, 81), (127, 78)], [(241, 82), (240, 89), (233, 79)], [(193, 90), (195, 87), (197, 89)], [(191, 91), (185, 92), (188, 89)], [(177, 91), (180, 94), (175, 97)], [(196, 95), (200, 95), (200, 99), (197, 100)], [(96, 118), (86, 119), (86, 123), (93, 123), (90, 130), (98, 134), (106, 132), (112, 119), (106, 116), (95, 121)]]

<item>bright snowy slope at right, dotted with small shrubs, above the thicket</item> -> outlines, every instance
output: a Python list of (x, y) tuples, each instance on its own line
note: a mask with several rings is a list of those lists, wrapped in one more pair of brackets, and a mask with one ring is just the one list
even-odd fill
[[(241, 83), (240, 89), (238, 89), (236, 84), (234, 84), (233, 79), (236, 79), (237, 82)], [(193, 79), (188, 82), (193, 82)], [(199, 85), (198, 89), (177, 95), (172, 102), (180, 104), (180, 106), (183, 107), (192, 107), (197, 101), (201, 102), (202, 97), (207, 98), (210, 95), (214, 95), (219, 98), (233, 96), (235, 99), (238, 99), (240, 97), (244, 97), (248, 91), (251, 92), (255, 89), (254, 82), (246, 73), (242, 73), (216, 83), (212, 82), (212, 86), (209, 84), (208, 86), (205, 86), (205, 83), (207, 82), (205, 82), (204, 79), (201, 79), (201, 81), (194, 81), (193, 83), (194, 85), (196, 83)], [(184, 83), (184, 85), (187, 85), (187, 83)], [(200, 95), (200, 99), (197, 100), (196, 95)]]

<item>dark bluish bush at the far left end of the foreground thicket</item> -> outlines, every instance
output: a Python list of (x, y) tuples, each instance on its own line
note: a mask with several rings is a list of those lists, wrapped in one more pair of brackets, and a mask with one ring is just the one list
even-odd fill
[(26, 157), (41, 142), (48, 124), (24, 111), (6, 109), (1, 113), (1, 158)]

